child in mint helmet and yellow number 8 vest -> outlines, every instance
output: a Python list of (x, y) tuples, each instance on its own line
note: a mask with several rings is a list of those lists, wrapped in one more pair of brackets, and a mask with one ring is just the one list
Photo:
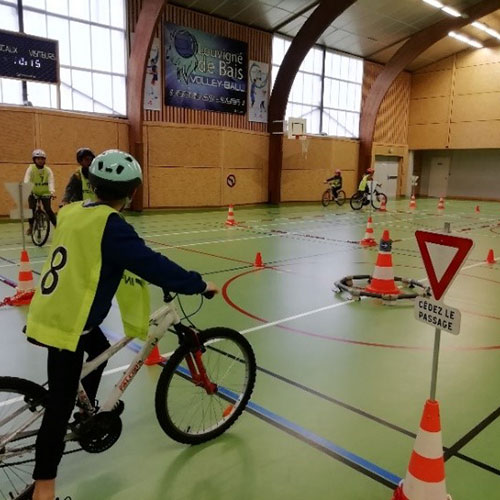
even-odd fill
[[(124, 325), (143, 322), (141, 288), (147, 284), (122, 279), (124, 271), (182, 294), (218, 292), (201, 275), (186, 271), (146, 246), (120, 215), (142, 183), (139, 163), (128, 153), (105, 151), (89, 169), (95, 202), (71, 203), (60, 210), (52, 248), (28, 313), (28, 338), (48, 347), (49, 396), (36, 441), (34, 500), (53, 500), (64, 437), (75, 406), (84, 353), (87, 361), (109, 347), (99, 325), (107, 316), (120, 283), (128, 288), (128, 307), (119, 302)], [(120, 285), (121, 288), (121, 285)], [(131, 305), (133, 304), (133, 305)], [(147, 307), (147, 315), (149, 307)], [(147, 329), (147, 315), (145, 328)], [(105, 363), (82, 383), (95, 406)], [(121, 414), (119, 401), (111, 410)], [(75, 420), (78, 413), (75, 414)], [(78, 424), (75, 425), (78, 432)]]

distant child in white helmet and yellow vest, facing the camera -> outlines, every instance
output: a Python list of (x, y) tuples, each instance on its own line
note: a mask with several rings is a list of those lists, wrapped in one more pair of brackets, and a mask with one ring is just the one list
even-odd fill
[[(35, 211), (36, 200), (41, 198), (43, 209), (49, 216), (50, 222), (56, 225), (56, 214), (52, 211), (50, 200), (55, 198), (56, 190), (54, 187), (54, 174), (52, 170), (45, 165), (47, 155), (43, 149), (35, 149), (32, 153), (33, 163), (31, 163), (24, 174), (24, 182), (31, 182), (33, 189), (28, 198), (28, 205), (31, 210)], [(27, 234), (30, 235), (33, 230), (33, 216), (29, 219), (29, 228)]]

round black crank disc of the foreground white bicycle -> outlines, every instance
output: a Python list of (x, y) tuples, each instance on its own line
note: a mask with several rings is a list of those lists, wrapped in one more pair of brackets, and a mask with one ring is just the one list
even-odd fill
[(78, 442), (88, 453), (102, 453), (111, 448), (122, 433), (122, 420), (111, 412), (98, 413), (78, 429)]

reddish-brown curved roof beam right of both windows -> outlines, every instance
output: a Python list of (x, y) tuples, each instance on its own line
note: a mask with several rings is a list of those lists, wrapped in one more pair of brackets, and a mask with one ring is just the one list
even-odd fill
[(358, 175), (371, 165), (373, 135), (380, 105), (399, 74), (429, 47), (448, 35), (500, 8), (499, 0), (482, 0), (463, 13), (464, 17), (443, 19), (415, 35), (391, 57), (368, 92), (360, 124)]

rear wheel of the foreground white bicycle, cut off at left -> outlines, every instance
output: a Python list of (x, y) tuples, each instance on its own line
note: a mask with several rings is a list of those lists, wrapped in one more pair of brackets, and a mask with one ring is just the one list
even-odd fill
[[(9, 399), (2, 399), (2, 393), (7, 394)], [(28, 419), (35, 411), (45, 408), (47, 395), (46, 389), (30, 380), (17, 377), (0, 377), (0, 403), (2, 403), (0, 405), (0, 422), (2, 422), (0, 441), (2, 436), (12, 433), (16, 426), (21, 426), (25, 421), (23, 418)], [(18, 400), (19, 397), (22, 399)], [(21, 403), (19, 406), (17, 405), (18, 402)], [(25, 410), (9, 420), (8, 412), (21, 411), (23, 406), (26, 406)], [(15, 419), (15, 424), (12, 419)], [(32, 497), (33, 480), (30, 468), (34, 467), (35, 441), (41, 424), (41, 416), (33, 424), (34, 428), (28, 427), (24, 431), (23, 437), (7, 442), (0, 449), (1, 498), (30, 500)], [(11, 454), (12, 457), (9, 458), (8, 454)], [(9, 470), (11, 471), (10, 474)]]

